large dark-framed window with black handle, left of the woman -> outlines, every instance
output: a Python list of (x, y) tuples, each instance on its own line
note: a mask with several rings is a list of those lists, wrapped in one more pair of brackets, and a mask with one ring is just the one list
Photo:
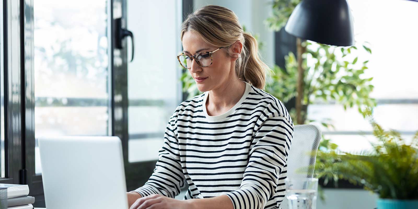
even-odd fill
[[(148, 180), (181, 102), (182, 3), (164, 3), (0, 1), (2, 183), (28, 184), (34, 206), (44, 207), (37, 139), (59, 135), (120, 137), (127, 188)], [(119, 18), (135, 35), (129, 64), (130, 40), (116, 46)]]

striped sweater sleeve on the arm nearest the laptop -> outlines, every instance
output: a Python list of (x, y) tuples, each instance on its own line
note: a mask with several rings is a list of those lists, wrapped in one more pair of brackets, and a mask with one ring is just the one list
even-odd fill
[(151, 194), (161, 194), (174, 198), (180, 193), (180, 189), (185, 186), (185, 177), (180, 163), (178, 148), (178, 138), (176, 135), (177, 116), (172, 115), (164, 133), (164, 145), (158, 151), (159, 159), (154, 169), (154, 173), (148, 181), (135, 192), (141, 196)]

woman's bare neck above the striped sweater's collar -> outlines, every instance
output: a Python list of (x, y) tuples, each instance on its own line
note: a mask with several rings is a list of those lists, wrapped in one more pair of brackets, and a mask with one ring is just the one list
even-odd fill
[(205, 104), (206, 112), (211, 116), (221, 115), (240, 101), (245, 93), (245, 82), (237, 78), (208, 93)]

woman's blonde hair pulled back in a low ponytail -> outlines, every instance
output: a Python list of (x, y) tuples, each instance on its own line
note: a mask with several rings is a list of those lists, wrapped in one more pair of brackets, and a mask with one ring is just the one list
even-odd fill
[[(264, 89), (265, 72), (269, 67), (259, 57), (257, 41), (250, 33), (243, 31), (233, 11), (217, 5), (201, 7), (189, 14), (182, 23), (181, 40), (187, 31), (198, 33), (206, 43), (225, 48), (235, 41), (241, 41), (243, 50), (235, 62), (235, 72), (240, 80)], [(231, 56), (228, 50), (227, 54)]]

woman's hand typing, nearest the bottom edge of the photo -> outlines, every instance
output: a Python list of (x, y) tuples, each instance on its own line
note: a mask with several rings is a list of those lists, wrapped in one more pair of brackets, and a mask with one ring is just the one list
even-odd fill
[(178, 200), (159, 194), (152, 194), (137, 199), (130, 209), (193, 209), (188, 200)]

